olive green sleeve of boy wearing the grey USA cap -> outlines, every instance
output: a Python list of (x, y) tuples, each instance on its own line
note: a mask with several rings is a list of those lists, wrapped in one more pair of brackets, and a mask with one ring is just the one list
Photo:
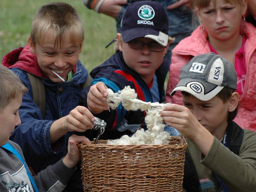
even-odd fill
[(256, 132), (244, 132), (239, 156), (214, 137), (209, 153), (201, 156), (201, 163), (215, 172), (230, 191), (255, 191)]

